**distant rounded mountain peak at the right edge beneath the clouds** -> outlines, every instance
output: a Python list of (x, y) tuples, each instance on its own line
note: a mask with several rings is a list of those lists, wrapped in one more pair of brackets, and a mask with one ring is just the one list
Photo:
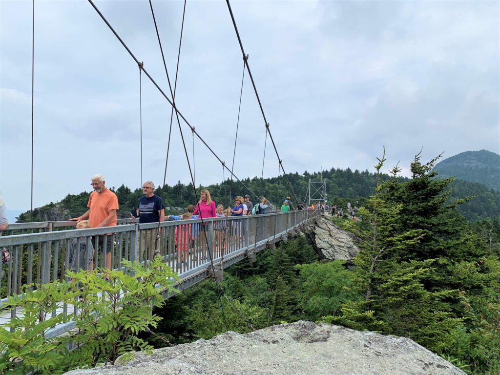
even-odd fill
[(500, 155), (485, 149), (460, 152), (438, 162), (433, 170), (440, 177), (452, 175), (500, 191)]

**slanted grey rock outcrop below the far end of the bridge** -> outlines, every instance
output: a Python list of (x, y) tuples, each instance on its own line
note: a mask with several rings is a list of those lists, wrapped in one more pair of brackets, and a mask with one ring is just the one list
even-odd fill
[(316, 252), (328, 260), (349, 260), (359, 251), (353, 242), (353, 235), (340, 229), (327, 217), (306, 223), (301, 232)]

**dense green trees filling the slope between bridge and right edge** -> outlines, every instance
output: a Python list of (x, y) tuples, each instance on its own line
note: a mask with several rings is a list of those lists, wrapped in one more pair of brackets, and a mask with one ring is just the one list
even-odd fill
[[(383, 160), (383, 158), (382, 158)], [(500, 221), (475, 223), (416, 159), (414, 178), (379, 180), (362, 221), (331, 218), (360, 248), (354, 267), (318, 261), (303, 237), (166, 301), (150, 343), (164, 346), (298, 319), (410, 337), (468, 374), (500, 373)], [(222, 308), (221, 308), (222, 307)]]

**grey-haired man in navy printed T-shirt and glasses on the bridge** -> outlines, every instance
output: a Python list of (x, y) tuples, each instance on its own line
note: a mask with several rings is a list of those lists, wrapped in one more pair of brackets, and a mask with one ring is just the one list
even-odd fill
[[(165, 206), (163, 200), (154, 193), (154, 183), (152, 181), (145, 181), (142, 184), (142, 195), (139, 198), (139, 203), (137, 206), (137, 215), (139, 216), (139, 223), (146, 222), (163, 222), (165, 220)], [(156, 234), (160, 234), (160, 229), (156, 232), (156, 229), (143, 229), (140, 231), (140, 251), (141, 258), (144, 254), (144, 250), (147, 258), (151, 260), (153, 258), (154, 242), (156, 239)], [(161, 248), (161, 243), (158, 239), (158, 248)]]

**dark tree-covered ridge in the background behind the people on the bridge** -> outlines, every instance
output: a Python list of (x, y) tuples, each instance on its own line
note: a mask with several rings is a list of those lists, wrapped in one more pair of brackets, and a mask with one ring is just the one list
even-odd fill
[[(352, 171), (347, 169), (324, 170), (322, 172), (308, 173), (305, 171), (302, 174), (290, 173), (287, 175), (300, 203), (306, 198), (307, 182), (309, 178), (315, 181), (326, 179), (326, 191), (328, 202), (336, 204), (338, 207), (345, 207), (348, 201), (353, 204), (357, 201), (357, 206), (365, 202), (367, 196), (372, 194), (375, 186), (375, 175), (367, 170)], [(388, 175), (382, 175), (382, 179), (388, 179)], [(407, 181), (407, 178), (399, 178), (400, 181)], [(231, 204), (235, 195), (250, 194), (251, 200), (256, 198), (251, 192), (256, 195), (265, 196), (271, 202), (280, 205), (286, 196), (291, 196), (294, 205), (296, 206), (293, 194), (290, 191), (288, 184), (283, 176), (264, 178), (263, 180), (257, 177), (243, 179), (242, 182), (248, 186), (251, 191), (246, 190), (238, 181), (225, 180), (222, 183), (207, 186), (212, 199), (215, 202), (224, 205)], [(201, 186), (200, 186), (201, 187)], [(467, 196), (475, 196), (469, 202), (461, 204), (458, 211), (469, 220), (478, 220), (486, 217), (500, 217), (500, 192), (488, 189), (479, 183), (466, 181), (453, 181), (450, 185), (453, 189), (451, 197), (462, 198)], [(111, 187), (118, 197), (120, 213), (122, 217), (128, 217), (128, 211), (136, 208), (137, 201), (142, 195), (140, 189), (130, 190), (127, 186), (121, 185), (118, 188)], [(199, 193), (199, 188), (197, 189)], [(170, 207), (166, 213), (176, 213), (173, 207), (186, 207), (196, 201), (192, 184), (183, 185), (177, 182), (175, 185), (165, 185), (164, 191), (161, 188), (156, 188), (156, 194), (163, 196), (165, 206)], [(59, 210), (69, 210), (69, 216), (74, 217), (86, 211), (86, 203), (88, 200), (88, 192), (84, 191), (79, 194), (68, 194), (60, 202), (49, 203), (42, 209), (50, 209), (57, 206)], [(69, 217), (67, 217), (69, 218)], [(29, 214), (21, 214), (19, 222), (30, 221)], [(34, 220), (41, 220), (37, 217), (37, 211), (34, 210)]]

